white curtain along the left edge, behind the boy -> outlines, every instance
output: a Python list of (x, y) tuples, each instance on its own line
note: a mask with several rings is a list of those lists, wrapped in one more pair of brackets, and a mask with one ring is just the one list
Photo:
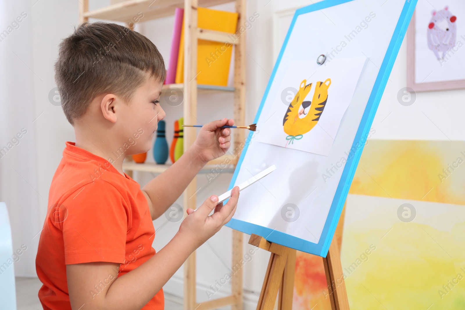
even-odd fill
[(33, 108), (33, 81), (40, 78), (31, 71), (31, 15), (29, 1), (0, 1), (0, 27), (6, 29), (0, 43), (0, 201), (7, 205), (12, 231), (12, 243), (6, 244), (13, 245), (13, 253), (21, 253), (2, 259), (0, 273), (7, 268), (23, 276), (35, 274), (36, 235), (42, 227)]

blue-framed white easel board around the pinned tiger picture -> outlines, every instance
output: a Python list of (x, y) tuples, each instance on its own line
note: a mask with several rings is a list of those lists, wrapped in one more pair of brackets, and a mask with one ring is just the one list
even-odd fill
[[(258, 130), (249, 132), (244, 141), (229, 189), (271, 165), (277, 169), (241, 191), (236, 213), (226, 226), (326, 257), (379, 101), (386, 84), (392, 82), (389, 75), (416, 3), (323, 0), (295, 12), (254, 119)], [(320, 54), (326, 55), (321, 67), (365, 58), (361, 73), (353, 77), (357, 79), (353, 96), (331, 136), (329, 151), (305, 152), (258, 141), (264, 135), (260, 129), (273, 119), (273, 106), (286, 95), (288, 68), (296, 61), (316, 63)], [(312, 80), (310, 71), (302, 76)], [(317, 81), (314, 84), (321, 86)], [(334, 95), (328, 90), (325, 112)], [(286, 111), (288, 103), (283, 103)], [(322, 130), (326, 132), (320, 128), (320, 134)]]

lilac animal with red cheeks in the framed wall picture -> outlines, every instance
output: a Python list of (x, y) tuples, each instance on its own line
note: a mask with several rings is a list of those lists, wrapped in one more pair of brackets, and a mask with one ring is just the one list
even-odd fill
[[(449, 11), (448, 6), (439, 12), (432, 11), (427, 31), (428, 47), (438, 60), (444, 59), (446, 52), (455, 46), (457, 39), (456, 20), (457, 17)], [(439, 52), (442, 52), (441, 57), (439, 57)]]

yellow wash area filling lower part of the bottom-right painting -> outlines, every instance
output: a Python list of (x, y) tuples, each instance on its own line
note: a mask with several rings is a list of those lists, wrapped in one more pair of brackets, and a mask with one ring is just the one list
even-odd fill
[[(344, 231), (344, 243), (348, 245), (343, 244), (343, 257), (352, 257), (352, 261), (342, 261), (351, 309), (425, 310), (431, 305), (430, 310), (465, 308), (465, 223), (456, 224), (452, 232), (414, 222), (398, 223), (376, 241), (373, 236), (383, 236), (385, 230), (364, 231), (359, 227), (354, 224)], [(367, 244), (374, 244), (376, 250), (352, 272), (347, 271), (353, 257), (359, 257)], [(458, 273), (464, 279), (456, 280), (455, 286), (449, 284), (448, 292), (444, 290), (442, 286)]]

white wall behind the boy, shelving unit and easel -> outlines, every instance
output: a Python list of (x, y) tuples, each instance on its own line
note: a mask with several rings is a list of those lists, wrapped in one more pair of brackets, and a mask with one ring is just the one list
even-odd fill
[[(35, 1), (32, 0), (34, 3)], [(90, 2), (95, 3), (93, 0)], [(99, 6), (105, 5), (104, 1), (100, 2)], [(255, 117), (274, 65), (273, 12), (308, 4), (312, 4), (312, 1), (248, 1), (247, 16), (254, 12), (258, 12), (260, 16), (252, 24), (252, 28), (246, 31), (246, 124), (252, 123)], [(98, 6), (95, 5), (95, 7)], [(231, 10), (232, 6), (228, 4), (220, 8)], [(58, 44), (61, 39), (72, 33), (73, 26), (78, 24), (78, 1), (42, 0), (32, 9), (33, 71), (44, 81), (41, 83), (34, 80), (36, 114), (43, 112), (35, 122), (39, 163), (38, 191), (44, 197), (40, 200), (40, 222), (42, 223), (46, 214), (48, 189), (53, 173), (60, 162), (65, 141), (74, 141), (72, 126), (66, 122), (61, 108), (50, 104), (48, 92), (55, 87), (53, 63), (57, 57)], [(140, 32), (159, 46), (166, 63), (169, 56), (172, 26), (172, 17), (140, 24)], [(412, 106), (402, 106), (397, 101), (397, 93), (405, 86), (406, 45), (404, 41), (373, 123), (376, 134), (372, 139), (464, 139), (462, 118), (465, 112), (465, 105), (463, 105), (465, 90), (418, 93), (417, 100)], [(198, 104), (198, 118), (201, 122), (207, 122), (212, 119), (232, 117), (232, 105), (231, 94), (201, 96)], [(169, 132), (173, 131), (173, 121), (182, 116), (182, 110), (180, 107), (165, 108), (167, 139), (170, 142)], [(153, 161), (151, 154), (148, 160)], [(138, 177), (145, 180), (150, 178), (150, 174), (140, 174)], [(138, 177), (135, 177), (136, 180)], [(231, 177), (231, 173), (223, 173), (212, 184), (207, 185), (205, 176), (201, 175), (198, 180), (198, 186), (202, 187), (198, 193), (198, 204), (203, 202), (208, 195), (219, 194), (226, 190)], [(178, 200), (178, 203), (182, 205), (182, 198)], [(157, 229), (154, 248), (159, 250), (177, 231), (179, 223), (167, 223), (164, 218), (159, 218), (154, 225)], [(244, 236), (247, 244), (248, 236)], [(248, 245), (246, 248), (248, 249)], [(206, 300), (205, 290), (228, 271), (227, 266), (231, 263), (230, 257), (231, 230), (225, 227), (198, 250), (199, 301)], [(244, 267), (246, 309), (255, 308), (253, 304), (256, 304), (258, 300), (256, 294), (259, 294), (261, 289), (268, 257), (268, 253), (258, 252)], [(179, 270), (166, 284), (167, 292), (182, 294), (182, 275), (182, 270)], [(229, 287), (225, 285), (214, 297), (228, 292)]]

